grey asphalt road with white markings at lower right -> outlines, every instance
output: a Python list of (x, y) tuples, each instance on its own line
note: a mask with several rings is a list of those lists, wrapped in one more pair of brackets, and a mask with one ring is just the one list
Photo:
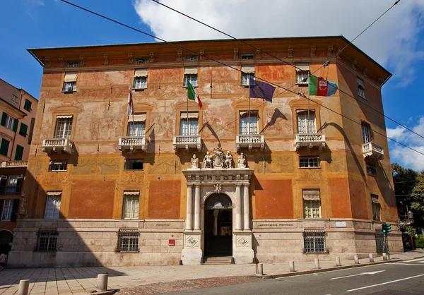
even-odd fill
[(424, 294), (424, 258), (175, 294)]

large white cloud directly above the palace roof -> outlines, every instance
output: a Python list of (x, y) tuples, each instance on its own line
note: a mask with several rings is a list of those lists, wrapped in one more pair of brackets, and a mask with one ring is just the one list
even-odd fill
[[(394, 0), (161, 0), (163, 4), (223, 30), (236, 38), (344, 35), (353, 40)], [(135, 0), (143, 23), (167, 41), (227, 38), (151, 0)], [(354, 44), (408, 85), (411, 67), (424, 59), (416, 36), (423, 30), (424, 1), (400, 1)]]

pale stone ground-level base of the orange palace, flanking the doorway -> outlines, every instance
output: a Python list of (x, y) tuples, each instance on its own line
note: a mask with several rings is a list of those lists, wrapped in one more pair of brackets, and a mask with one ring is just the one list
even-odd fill
[[(269, 219), (252, 224), (252, 231), (234, 230), (228, 235), (227, 250), (237, 264), (366, 258), (386, 246), (381, 222), (369, 220)], [(207, 246), (203, 231), (185, 227), (184, 219), (19, 219), (8, 266), (178, 265), (179, 260), (199, 265), (213, 243)], [(119, 244), (122, 237), (135, 239), (138, 245)], [(399, 231), (391, 232), (388, 241), (390, 253), (403, 252)], [(308, 253), (314, 249), (323, 253)]]

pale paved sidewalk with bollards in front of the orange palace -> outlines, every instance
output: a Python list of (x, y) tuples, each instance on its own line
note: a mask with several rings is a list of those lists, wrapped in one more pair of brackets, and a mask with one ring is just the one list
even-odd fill
[[(424, 251), (406, 252), (391, 255), (392, 259), (409, 260), (424, 257)], [(382, 257), (375, 258), (382, 262)], [(320, 261), (322, 269), (335, 268), (334, 261)], [(369, 264), (368, 258), (360, 260), (360, 265)], [(354, 265), (353, 260), (341, 260), (342, 266)], [(251, 265), (172, 265), (140, 267), (55, 267), (6, 269), (0, 272), (0, 294), (17, 294), (20, 279), (30, 279), (30, 294), (89, 294), (96, 289), (97, 275), (109, 274), (109, 289), (122, 289), (157, 282), (172, 282), (183, 279), (206, 277), (230, 277), (254, 275), (256, 266)], [(288, 273), (288, 263), (264, 263), (265, 275)], [(314, 270), (314, 262), (295, 263), (296, 272)]]

